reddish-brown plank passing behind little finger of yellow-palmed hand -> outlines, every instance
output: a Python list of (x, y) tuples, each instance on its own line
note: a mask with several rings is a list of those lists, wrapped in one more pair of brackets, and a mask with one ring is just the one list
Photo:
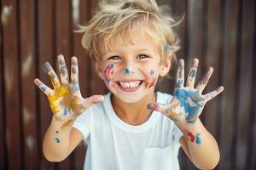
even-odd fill
[[(50, 88), (52, 85), (49, 81), (49, 77), (43, 71), (42, 66), (44, 62), (48, 61), (50, 64), (53, 64), (53, 56), (54, 56), (54, 48), (55, 48), (55, 39), (54, 39), (54, 31), (52, 24), (54, 23), (54, 15), (53, 11), (53, 1), (45, 0), (38, 1), (37, 4), (38, 9), (38, 78), (47, 84)], [(49, 161), (46, 161), (44, 155), (42, 153), (42, 143), (44, 133), (49, 127), (49, 123), (51, 121), (52, 112), (49, 109), (48, 99), (44, 93), (42, 93), (38, 89), (38, 133), (39, 135), (39, 147), (41, 148), (39, 153), (39, 169), (54, 169), (55, 164)]]

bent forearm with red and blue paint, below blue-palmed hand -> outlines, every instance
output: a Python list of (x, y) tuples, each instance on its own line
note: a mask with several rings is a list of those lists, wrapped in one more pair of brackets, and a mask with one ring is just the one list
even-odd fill
[[(184, 141), (187, 144), (189, 157), (195, 166), (200, 169), (213, 169), (216, 167), (219, 161), (218, 144), (201, 121), (198, 119), (194, 125), (183, 127), (182, 131), (185, 136)], [(194, 139), (191, 134), (193, 134)]]

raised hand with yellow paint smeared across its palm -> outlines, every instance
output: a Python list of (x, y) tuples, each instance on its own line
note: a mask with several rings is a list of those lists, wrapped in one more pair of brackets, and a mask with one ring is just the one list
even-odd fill
[(49, 99), (49, 106), (55, 118), (63, 122), (62, 127), (69, 126), (77, 116), (84, 112), (90, 105), (101, 102), (102, 95), (93, 95), (84, 99), (79, 88), (79, 67), (78, 59), (71, 59), (71, 82), (69, 81), (67, 66), (63, 55), (58, 56), (59, 72), (61, 82), (55, 71), (48, 62), (44, 63), (44, 71), (49, 75), (54, 89), (47, 87), (39, 79), (35, 83)]

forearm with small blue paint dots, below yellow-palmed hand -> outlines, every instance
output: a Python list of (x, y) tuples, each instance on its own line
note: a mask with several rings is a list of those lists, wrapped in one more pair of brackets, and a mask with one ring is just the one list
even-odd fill
[(72, 126), (61, 128), (62, 125), (63, 123), (53, 116), (44, 134), (43, 151), (48, 161), (62, 161), (68, 155)]

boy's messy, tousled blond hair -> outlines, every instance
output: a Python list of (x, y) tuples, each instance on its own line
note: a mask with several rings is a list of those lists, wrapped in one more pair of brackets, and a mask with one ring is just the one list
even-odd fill
[(179, 41), (172, 27), (178, 22), (167, 9), (159, 7), (154, 0), (101, 0), (89, 25), (81, 26), (82, 45), (89, 51), (90, 59), (99, 62), (103, 49), (111, 48), (116, 35), (130, 41), (132, 27), (143, 24), (143, 31), (160, 45), (161, 61), (165, 59), (166, 50), (176, 59)]

